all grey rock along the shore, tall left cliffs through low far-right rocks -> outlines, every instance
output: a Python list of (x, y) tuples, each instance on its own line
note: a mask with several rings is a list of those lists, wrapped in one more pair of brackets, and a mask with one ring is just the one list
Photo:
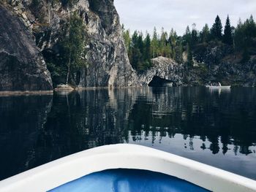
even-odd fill
[(86, 31), (85, 65), (72, 74), (72, 84), (78, 88), (145, 86), (159, 82), (204, 85), (208, 81), (256, 85), (256, 59), (238, 64), (236, 59), (228, 58), (230, 53), (218, 50), (217, 45), (203, 49), (204, 53), (202, 49), (193, 53), (196, 61), (193, 67), (159, 57), (152, 60), (151, 69), (138, 74), (129, 64), (113, 0), (0, 0), (0, 3), (0, 91), (50, 90), (66, 82), (61, 41), (67, 38), (65, 28), (74, 12), (83, 20)]

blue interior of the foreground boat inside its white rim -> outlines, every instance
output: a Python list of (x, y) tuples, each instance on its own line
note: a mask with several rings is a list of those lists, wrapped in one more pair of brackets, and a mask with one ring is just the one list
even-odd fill
[(50, 192), (205, 192), (205, 188), (159, 172), (108, 169), (80, 177)]

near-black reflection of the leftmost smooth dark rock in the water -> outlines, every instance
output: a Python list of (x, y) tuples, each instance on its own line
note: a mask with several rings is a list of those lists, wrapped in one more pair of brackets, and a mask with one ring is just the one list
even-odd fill
[(0, 180), (24, 169), (44, 130), (53, 96), (0, 96)]

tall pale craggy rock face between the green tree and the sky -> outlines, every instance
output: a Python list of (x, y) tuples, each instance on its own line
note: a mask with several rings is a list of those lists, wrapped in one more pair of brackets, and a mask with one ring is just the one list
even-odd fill
[(129, 64), (113, 1), (89, 1), (86, 10), (90, 49), (89, 66), (83, 70), (79, 87), (118, 87), (138, 85), (138, 77)]

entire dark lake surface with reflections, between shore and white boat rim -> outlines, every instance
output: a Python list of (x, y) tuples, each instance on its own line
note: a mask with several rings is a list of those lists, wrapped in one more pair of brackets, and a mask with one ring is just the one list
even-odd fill
[(122, 88), (0, 97), (0, 180), (133, 143), (256, 180), (256, 88)]

